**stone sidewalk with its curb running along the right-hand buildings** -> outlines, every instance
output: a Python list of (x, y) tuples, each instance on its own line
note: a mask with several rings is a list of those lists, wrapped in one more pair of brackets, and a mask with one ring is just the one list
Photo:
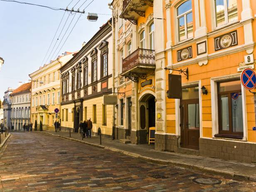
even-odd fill
[(148, 144), (124, 144), (119, 142), (119, 140), (112, 140), (104, 137), (102, 137), (102, 144), (100, 145), (98, 136), (92, 136), (92, 138), (84, 138), (84, 140), (82, 140), (80, 134), (71, 133), (71, 138), (69, 138), (69, 132), (64, 131), (58, 133), (55, 133), (54, 131), (38, 131), (37, 133), (52, 134), (65, 139), (89, 144), (91, 146), (97, 146), (111, 151), (116, 151), (118, 153), (123, 153), (125, 155), (153, 163), (175, 165), (183, 168), (202, 171), (204, 173), (234, 177), (241, 180), (256, 181), (255, 163), (240, 163), (217, 158), (208, 158), (166, 151), (156, 151), (154, 150), (153, 144), (150, 146), (148, 146)]

